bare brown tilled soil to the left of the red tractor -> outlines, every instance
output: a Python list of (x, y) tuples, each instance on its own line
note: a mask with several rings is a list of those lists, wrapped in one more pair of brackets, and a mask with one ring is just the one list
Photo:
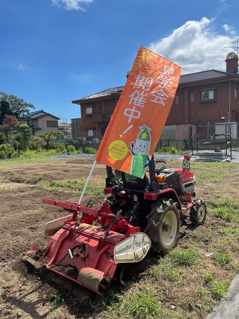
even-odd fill
[[(61, 208), (42, 204), (42, 198), (79, 200), (79, 195), (68, 189), (49, 192), (38, 188), (34, 184), (34, 176), (54, 176), (59, 181), (85, 180), (92, 163), (92, 160), (70, 159), (55, 164), (53, 160), (50, 164), (47, 161), (1, 170), (2, 179), (21, 175), (21, 180), (24, 176), (29, 180), (32, 176), (33, 184), (0, 183), (0, 188), (6, 189), (0, 192), (0, 318), (54, 318), (53, 314), (49, 314), (52, 306), (46, 302), (46, 297), (53, 291), (65, 300), (61, 312), (57, 312), (57, 318), (81, 318), (93, 311), (89, 300), (91, 296), (97, 298), (94, 293), (54, 273), (49, 274), (49, 271), (38, 272), (23, 258), (32, 246), (47, 246), (49, 237), (43, 234), (47, 221), (67, 215)], [(105, 166), (97, 165), (93, 178), (97, 175), (105, 176)], [(84, 196), (82, 204), (90, 198)], [(99, 197), (99, 202), (102, 199)]]

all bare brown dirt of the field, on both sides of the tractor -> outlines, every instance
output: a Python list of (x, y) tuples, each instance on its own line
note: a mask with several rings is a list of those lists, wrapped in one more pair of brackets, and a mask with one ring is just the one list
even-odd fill
[[(56, 180), (64, 182), (67, 180), (86, 180), (93, 160), (86, 159), (62, 159), (47, 160), (38, 164), (14, 164), (9, 163), (0, 171), (0, 318), (93, 318), (100, 317), (105, 311), (102, 299), (90, 291), (69, 282), (67, 279), (59, 278), (48, 271), (37, 272), (33, 267), (23, 261), (23, 253), (31, 246), (46, 247), (49, 237), (43, 235), (43, 229), (47, 221), (62, 216), (65, 213), (57, 207), (41, 203), (43, 197), (56, 200), (68, 200), (77, 202), (79, 195), (72, 189), (64, 188), (57, 190), (43, 189), (39, 183)], [(227, 164), (227, 163), (226, 163)], [(172, 167), (173, 164), (170, 163)], [(174, 163), (181, 167), (182, 163)], [(229, 167), (229, 166), (228, 166)], [(192, 169), (193, 170), (193, 169)], [(210, 168), (205, 174), (210, 171)], [(203, 171), (200, 171), (202, 182), (197, 183), (197, 197), (212, 200), (213, 198), (230, 197), (239, 199), (239, 164), (225, 169), (225, 176), (228, 174), (233, 180), (223, 176), (217, 182), (207, 182), (203, 178)], [(228, 173), (229, 172), (229, 173)], [(215, 168), (214, 174), (217, 174)], [(106, 176), (105, 166), (97, 164), (92, 181), (102, 185)], [(196, 176), (197, 177), (197, 176)], [(221, 178), (221, 179), (220, 179)], [(101, 187), (101, 186), (100, 186)], [(83, 204), (88, 202), (92, 196), (85, 196)], [(98, 197), (98, 204), (104, 197)], [(182, 227), (182, 235), (179, 246), (189, 247), (185, 243), (185, 236), (191, 231), (190, 236), (196, 238), (198, 234), (205, 231), (206, 227), (214, 227), (219, 223), (207, 219), (206, 226), (200, 230), (185, 230)], [(221, 225), (225, 225), (221, 221)], [(207, 243), (201, 239), (201, 248), (206, 249)], [(158, 258), (158, 257), (157, 257)], [(154, 259), (156, 259), (154, 257)], [(157, 259), (153, 261), (156, 263)], [(152, 264), (152, 260), (149, 261)], [(236, 265), (235, 265), (236, 269)], [(231, 271), (231, 270), (230, 270)], [(233, 272), (222, 269), (223, 276), (232, 278)], [(230, 273), (230, 275), (228, 275)], [(132, 284), (132, 283), (131, 283)], [(168, 289), (168, 288), (167, 288)], [(52, 307), (47, 303), (50, 293), (56, 292), (64, 298), (64, 303)], [(56, 309), (56, 312), (50, 310)], [(196, 316), (198, 318), (198, 316)], [(110, 318), (110, 317), (108, 317)], [(112, 315), (113, 318), (113, 315)], [(136, 317), (135, 317), (136, 318)], [(138, 318), (138, 317), (137, 317)], [(176, 317), (175, 317), (176, 318)], [(179, 318), (179, 317), (178, 317)], [(180, 318), (186, 318), (182, 316)], [(188, 317), (189, 318), (189, 317)], [(193, 311), (192, 316), (193, 317)]]

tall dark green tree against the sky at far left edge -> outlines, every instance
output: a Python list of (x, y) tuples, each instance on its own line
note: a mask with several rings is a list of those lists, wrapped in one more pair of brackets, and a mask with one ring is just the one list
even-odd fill
[(0, 91), (0, 124), (3, 123), (5, 115), (13, 115), (18, 120), (30, 116), (29, 108), (35, 109), (33, 104), (19, 99), (17, 96)]

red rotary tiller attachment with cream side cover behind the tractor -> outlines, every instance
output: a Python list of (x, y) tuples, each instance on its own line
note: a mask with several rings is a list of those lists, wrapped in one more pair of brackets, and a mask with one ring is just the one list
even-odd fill
[(47, 269), (94, 292), (110, 284), (118, 263), (138, 262), (148, 253), (148, 236), (121, 217), (121, 211), (112, 214), (106, 202), (100, 209), (46, 198), (42, 202), (71, 214), (46, 224), (44, 234), (53, 235), (46, 250), (33, 246), (27, 253)]

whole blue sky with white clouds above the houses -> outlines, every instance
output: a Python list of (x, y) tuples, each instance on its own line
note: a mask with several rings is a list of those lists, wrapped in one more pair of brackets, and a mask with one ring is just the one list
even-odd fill
[(137, 41), (188, 72), (225, 70), (239, 37), (232, 0), (0, 0), (0, 91), (61, 117), (121, 86)]

